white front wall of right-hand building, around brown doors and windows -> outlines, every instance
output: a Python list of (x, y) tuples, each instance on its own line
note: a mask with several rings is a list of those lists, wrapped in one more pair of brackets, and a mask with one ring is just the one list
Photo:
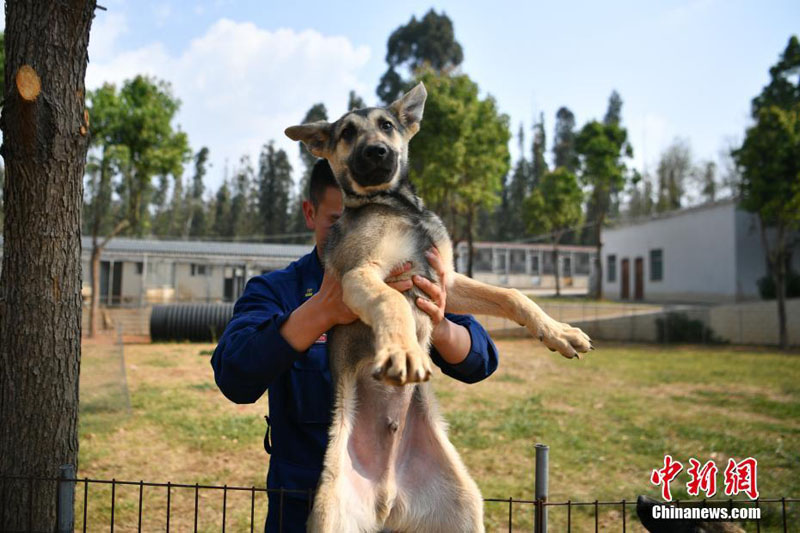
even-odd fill
[[(736, 297), (735, 206), (716, 206), (603, 232), (603, 285), (607, 298), (620, 299), (622, 260), (630, 260), (630, 296), (635, 260), (644, 260), (647, 301), (730, 301)], [(650, 251), (661, 249), (663, 279), (651, 281)], [(608, 256), (616, 256), (616, 280), (608, 281)]]

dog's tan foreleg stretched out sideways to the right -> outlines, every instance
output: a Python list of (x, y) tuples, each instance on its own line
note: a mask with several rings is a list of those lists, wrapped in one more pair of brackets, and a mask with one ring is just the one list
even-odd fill
[(447, 311), (474, 313), (513, 320), (564, 357), (580, 357), (591, 349), (591, 340), (579, 328), (552, 319), (533, 300), (516, 289), (481, 283), (453, 272), (447, 288)]

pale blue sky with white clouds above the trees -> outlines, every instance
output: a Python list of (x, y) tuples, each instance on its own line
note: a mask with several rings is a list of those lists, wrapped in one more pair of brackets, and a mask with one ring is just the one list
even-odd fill
[[(800, 33), (796, 0), (99, 3), (107, 10), (92, 25), (87, 89), (139, 73), (169, 81), (192, 149), (211, 151), (214, 190), (226, 167), (232, 172), (243, 154), (256, 162), (270, 140), (297, 170), (297, 145), (283, 130), (314, 103), (325, 103), (331, 119), (346, 111), (350, 90), (377, 104), (387, 38), (431, 7), (453, 21), (461, 70), (496, 98), (514, 134), (523, 125), (526, 144), (539, 113), (549, 143), (559, 107), (580, 127), (602, 119), (616, 90), (632, 166), (650, 172), (676, 138), (698, 162), (740, 142), (750, 100)], [(516, 138), (509, 144), (516, 159)]]

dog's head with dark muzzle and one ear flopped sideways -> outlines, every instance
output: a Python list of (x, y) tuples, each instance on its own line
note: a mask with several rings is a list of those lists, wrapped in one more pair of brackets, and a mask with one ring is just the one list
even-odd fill
[(406, 173), (408, 142), (419, 131), (427, 96), (419, 83), (388, 107), (356, 109), (333, 124), (292, 126), (286, 135), (327, 159), (346, 194), (393, 190)]

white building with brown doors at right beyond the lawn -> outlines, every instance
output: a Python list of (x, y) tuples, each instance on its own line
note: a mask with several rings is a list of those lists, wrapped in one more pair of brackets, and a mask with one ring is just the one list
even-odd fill
[[(759, 299), (767, 273), (758, 217), (733, 200), (619, 223), (603, 231), (604, 296), (619, 300)], [(791, 264), (800, 270), (800, 245)]]

